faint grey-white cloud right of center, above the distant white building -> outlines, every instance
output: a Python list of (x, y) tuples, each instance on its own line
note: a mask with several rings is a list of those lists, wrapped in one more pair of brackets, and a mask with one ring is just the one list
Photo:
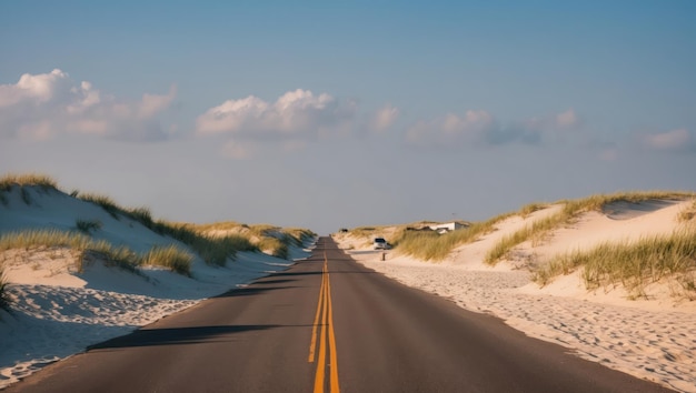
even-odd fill
[(424, 147), (456, 147), (484, 142), (497, 128), (494, 117), (483, 110), (470, 110), (464, 117), (448, 113), (444, 118), (420, 121), (406, 132), (407, 142)]

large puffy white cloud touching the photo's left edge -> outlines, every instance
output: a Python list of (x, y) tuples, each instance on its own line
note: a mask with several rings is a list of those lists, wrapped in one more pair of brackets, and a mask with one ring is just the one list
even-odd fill
[(77, 84), (59, 69), (21, 75), (0, 85), (0, 137), (46, 140), (60, 134), (96, 134), (125, 140), (167, 138), (158, 115), (169, 108), (176, 89), (167, 94), (119, 101), (88, 81)]

